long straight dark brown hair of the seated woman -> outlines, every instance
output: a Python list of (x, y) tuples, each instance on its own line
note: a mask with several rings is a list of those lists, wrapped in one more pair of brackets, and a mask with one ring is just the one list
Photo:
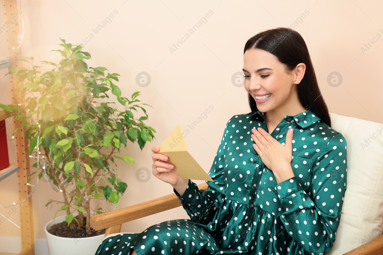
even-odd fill
[[(331, 118), (326, 102), (321, 95), (313, 63), (302, 36), (291, 28), (274, 28), (259, 32), (247, 40), (243, 53), (248, 49), (261, 49), (275, 55), (285, 65), (286, 72), (291, 72), (299, 63), (306, 65), (303, 79), (298, 84), (298, 97), (302, 106), (312, 110), (321, 120), (331, 127)], [(258, 110), (254, 98), (249, 95), (252, 112)]]

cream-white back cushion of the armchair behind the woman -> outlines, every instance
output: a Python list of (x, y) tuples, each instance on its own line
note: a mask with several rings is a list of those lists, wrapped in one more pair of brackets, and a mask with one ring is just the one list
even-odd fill
[(382, 234), (383, 124), (330, 116), (332, 128), (347, 141), (347, 189), (334, 246), (326, 255), (342, 255)]

